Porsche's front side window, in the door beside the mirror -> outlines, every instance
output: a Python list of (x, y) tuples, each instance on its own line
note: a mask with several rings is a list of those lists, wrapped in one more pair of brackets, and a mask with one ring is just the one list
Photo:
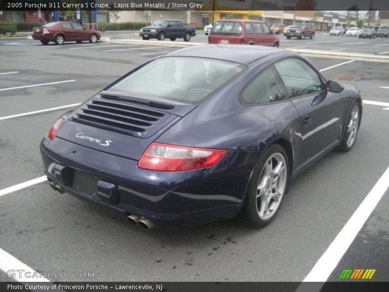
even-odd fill
[(319, 75), (307, 63), (291, 58), (274, 65), (290, 97), (314, 94), (322, 90)]

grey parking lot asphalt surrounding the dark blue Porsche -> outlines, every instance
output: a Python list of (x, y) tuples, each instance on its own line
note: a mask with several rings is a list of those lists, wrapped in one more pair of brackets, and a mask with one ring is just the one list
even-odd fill
[[(43, 175), (39, 143), (74, 107), (29, 113), (84, 102), (141, 63), (177, 49), (22, 43), (0, 43), (0, 190)], [(310, 60), (319, 70), (344, 63)], [(389, 103), (388, 72), (387, 63), (353, 61), (323, 74), (352, 80), (365, 100)], [(293, 181), (277, 218), (263, 229), (231, 219), (144, 232), (43, 182), (0, 196), (0, 248), (35, 271), (94, 273), (60, 278), (65, 281), (302, 281), (389, 166), (385, 108), (366, 103), (353, 150), (329, 153)], [(4, 118), (21, 113), (27, 115)], [(388, 194), (330, 280), (347, 266), (377, 269), (376, 277), (389, 281), (382, 260), (388, 255)]]

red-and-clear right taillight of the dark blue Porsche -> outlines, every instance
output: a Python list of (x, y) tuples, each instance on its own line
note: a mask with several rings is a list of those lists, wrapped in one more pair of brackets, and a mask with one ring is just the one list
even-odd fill
[(144, 169), (164, 171), (202, 168), (217, 164), (226, 151), (154, 142), (144, 151), (138, 166)]

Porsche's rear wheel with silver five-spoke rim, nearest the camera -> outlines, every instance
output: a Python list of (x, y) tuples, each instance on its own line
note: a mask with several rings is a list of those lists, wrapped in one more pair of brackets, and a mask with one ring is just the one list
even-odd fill
[(261, 154), (242, 208), (248, 225), (263, 227), (274, 219), (288, 189), (288, 165), (286, 151), (279, 144), (271, 145)]

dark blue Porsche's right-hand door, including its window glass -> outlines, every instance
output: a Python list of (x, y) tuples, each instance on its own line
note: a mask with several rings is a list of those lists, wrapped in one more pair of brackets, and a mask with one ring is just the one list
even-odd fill
[(327, 91), (321, 75), (300, 58), (285, 59), (275, 68), (299, 113), (306, 158), (335, 145), (342, 130), (341, 94)]

